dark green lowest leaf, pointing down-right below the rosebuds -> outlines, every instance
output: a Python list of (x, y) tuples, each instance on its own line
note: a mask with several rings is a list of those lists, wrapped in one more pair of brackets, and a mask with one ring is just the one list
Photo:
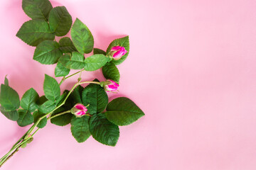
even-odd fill
[(92, 115), (89, 121), (92, 137), (98, 142), (114, 147), (119, 138), (119, 128), (109, 120), (105, 114), (99, 113)]

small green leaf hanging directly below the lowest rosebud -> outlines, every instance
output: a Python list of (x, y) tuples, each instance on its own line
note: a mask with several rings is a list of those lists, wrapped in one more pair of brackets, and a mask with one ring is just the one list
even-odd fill
[(71, 132), (78, 142), (85, 142), (85, 140), (90, 137), (89, 118), (89, 116), (85, 115), (81, 118), (76, 118), (75, 115), (73, 115), (71, 120)]

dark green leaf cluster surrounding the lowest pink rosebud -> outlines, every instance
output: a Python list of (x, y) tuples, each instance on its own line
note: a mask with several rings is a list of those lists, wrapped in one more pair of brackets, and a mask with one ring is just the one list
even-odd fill
[[(95, 79), (95, 81), (98, 81)], [(68, 92), (68, 91), (67, 91)], [(141, 118), (144, 113), (129, 98), (115, 98), (109, 103), (105, 90), (98, 84), (89, 84), (83, 88), (78, 86), (63, 107), (53, 115), (68, 111), (75, 103), (88, 106), (88, 113), (81, 118), (72, 114), (60, 115), (51, 119), (55, 125), (71, 124), (71, 132), (75, 140), (85, 142), (90, 135), (104, 145), (115, 146), (119, 138), (119, 127), (129, 125)]]

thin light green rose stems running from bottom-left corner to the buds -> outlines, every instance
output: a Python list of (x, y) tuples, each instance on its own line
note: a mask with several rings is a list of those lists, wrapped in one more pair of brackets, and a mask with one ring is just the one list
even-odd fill
[[(83, 70), (83, 69), (80, 70), (80, 72), (82, 72), (82, 71), (84, 71), (84, 70)], [(80, 72), (76, 72), (75, 74), (79, 74)], [(75, 75), (75, 74), (72, 74), (72, 75), (70, 75), (69, 77), (72, 77), (72, 76)], [(65, 77), (64, 80), (65, 80), (65, 79), (68, 79), (69, 77)], [(63, 82), (64, 80), (60, 81), (60, 84), (62, 84), (62, 82)], [(76, 83), (76, 84), (73, 86), (73, 88), (69, 91), (68, 95), (65, 97), (65, 99), (64, 99), (64, 101), (63, 101), (62, 103), (60, 103), (55, 109), (53, 109), (53, 111), (50, 111), (49, 113), (46, 113), (46, 114), (43, 115), (41, 118), (39, 118), (39, 119), (36, 121), (36, 123), (34, 123), (34, 124), (31, 126), (31, 128), (14, 144), (14, 146), (11, 147), (10, 151), (9, 151), (7, 154), (5, 154), (4, 157), (1, 157), (1, 159), (0, 159), (0, 167), (1, 167), (6, 161), (8, 161), (16, 152), (18, 152), (18, 149), (21, 147), (21, 145), (25, 144), (28, 140), (30, 140), (30, 139), (36, 134), (36, 132), (38, 132), (38, 130), (39, 130), (40, 128), (37, 128), (36, 130), (35, 130), (35, 128), (36, 128), (36, 126), (38, 125), (38, 123), (39, 123), (43, 118), (46, 118), (48, 115), (50, 115), (50, 116), (48, 117), (48, 120), (50, 120), (51, 118), (55, 118), (55, 117), (57, 117), (57, 116), (59, 116), (59, 115), (63, 115), (63, 114), (65, 114), (65, 113), (70, 113), (70, 111), (65, 111), (65, 112), (63, 112), (63, 113), (58, 113), (57, 115), (51, 116), (51, 113), (53, 113), (54, 111), (56, 111), (58, 108), (60, 108), (61, 106), (63, 106), (63, 105), (65, 104), (65, 101), (67, 101), (68, 96), (70, 96), (70, 94), (73, 92), (73, 90), (74, 90), (77, 86), (79, 86), (80, 84), (100, 84), (100, 82), (97, 82), (97, 81), (83, 81), (83, 82), (80, 82), (80, 81), (78, 81), (78, 83)], [(90, 114), (87, 114), (87, 115), (91, 116)], [(35, 131), (33, 132), (33, 130), (35, 130)], [(32, 133), (32, 132), (33, 132), (33, 133)], [(32, 133), (32, 135), (31, 135), (31, 133)]]

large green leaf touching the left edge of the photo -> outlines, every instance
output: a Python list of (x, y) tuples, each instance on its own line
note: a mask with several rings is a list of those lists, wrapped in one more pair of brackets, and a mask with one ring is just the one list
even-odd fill
[(20, 106), (18, 93), (10, 86), (1, 84), (0, 104), (5, 111), (15, 111)]

